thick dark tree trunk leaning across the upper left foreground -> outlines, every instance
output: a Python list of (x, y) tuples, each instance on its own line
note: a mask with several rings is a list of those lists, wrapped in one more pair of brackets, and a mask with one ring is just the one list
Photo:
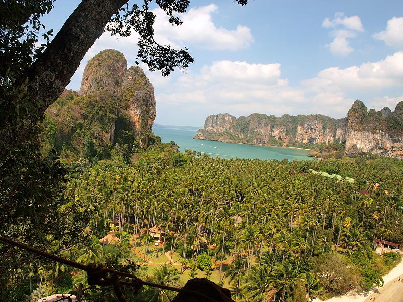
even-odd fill
[[(36, 61), (18, 79), (28, 78), (32, 109), (26, 123), (1, 122), (3, 146), (13, 151), (30, 133), (45, 110), (59, 97), (70, 82), (88, 49), (102, 35), (105, 25), (128, 0), (83, 0), (66, 20), (55, 38)], [(40, 100), (40, 101), (39, 101)]]

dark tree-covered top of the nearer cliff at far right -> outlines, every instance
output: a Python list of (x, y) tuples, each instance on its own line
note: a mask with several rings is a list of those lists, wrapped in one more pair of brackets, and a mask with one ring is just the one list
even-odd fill
[(348, 127), (355, 130), (383, 131), (389, 135), (403, 135), (403, 101), (399, 102), (394, 111), (388, 107), (376, 111), (367, 110), (360, 100), (356, 100), (348, 111)]

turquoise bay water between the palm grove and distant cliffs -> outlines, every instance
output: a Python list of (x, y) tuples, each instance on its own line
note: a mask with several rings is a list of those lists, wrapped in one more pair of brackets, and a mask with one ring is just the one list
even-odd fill
[(153, 127), (153, 132), (156, 136), (161, 137), (163, 143), (170, 141), (177, 143), (180, 151), (191, 149), (196, 152), (207, 153), (212, 157), (312, 160), (312, 157), (307, 156), (310, 153), (308, 150), (195, 140), (193, 136), (196, 135), (196, 130)]

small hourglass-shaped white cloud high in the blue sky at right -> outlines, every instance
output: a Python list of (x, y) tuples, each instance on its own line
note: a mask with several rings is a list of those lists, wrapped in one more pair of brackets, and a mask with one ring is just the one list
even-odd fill
[(324, 28), (334, 29), (330, 35), (333, 41), (326, 46), (334, 56), (347, 56), (354, 48), (349, 44), (348, 38), (356, 37), (356, 32), (364, 31), (361, 19), (358, 16), (346, 17), (344, 13), (335, 13), (333, 20), (326, 18), (322, 22)]

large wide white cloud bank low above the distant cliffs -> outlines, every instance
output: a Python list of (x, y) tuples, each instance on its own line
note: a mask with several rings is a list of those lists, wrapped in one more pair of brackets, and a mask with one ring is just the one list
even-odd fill
[(326, 68), (298, 85), (290, 85), (287, 79), (281, 78), (278, 63), (224, 60), (205, 65), (198, 73), (182, 75), (171, 82), (170, 89), (158, 94), (157, 100), (161, 104), (180, 106), (184, 111), (198, 108), (208, 114), (320, 113), (340, 118), (347, 115), (354, 100), (362, 95), (374, 96), (367, 101), (370, 108), (394, 108), (402, 98), (384, 97), (384, 91), (401, 83), (403, 52), (360, 66)]

